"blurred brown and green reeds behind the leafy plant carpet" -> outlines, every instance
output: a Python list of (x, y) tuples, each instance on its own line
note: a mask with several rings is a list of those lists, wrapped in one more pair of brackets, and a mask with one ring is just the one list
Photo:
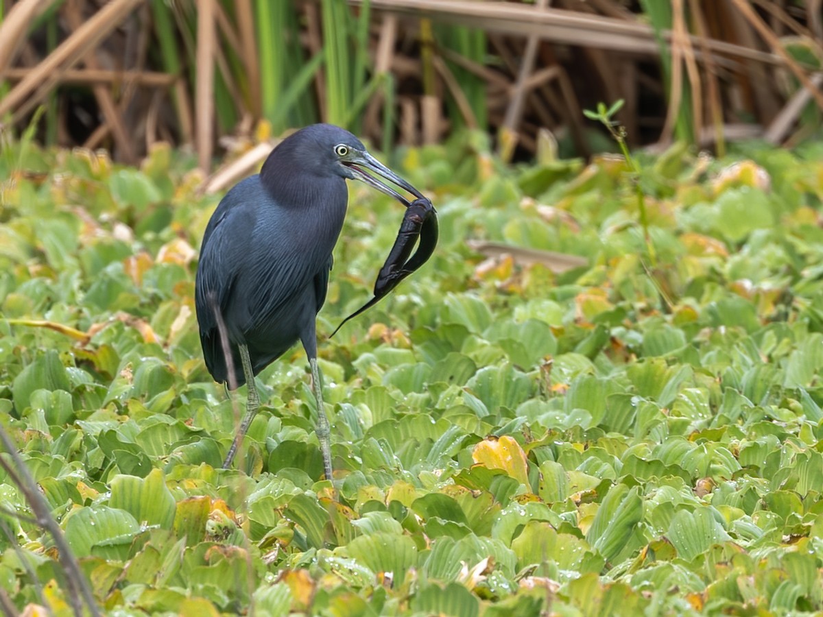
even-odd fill
[[(486, 132), (504, 160), (631, 146), (791, 146), (823, 109), (821, 0), (3, 0), (0, 121), (204, 170), (326, 121), (384, 151)], [(253, 156), (260, 160), (270, 144)]]

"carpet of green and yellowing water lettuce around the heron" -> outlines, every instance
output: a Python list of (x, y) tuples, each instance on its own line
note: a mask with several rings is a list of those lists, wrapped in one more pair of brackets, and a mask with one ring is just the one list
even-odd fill
[[(241, 409), (199, 349), (194, 264), (219, 196), (194, 161), (9, 144), (0, 423), (113, 614), (811, 614), (821, 160), (820, 144), (638, 155), (646, 234), (621, 159), (510, 168), (474, 136), (401, 153), (439, 246), (320, 341), (332, 484), (298, 349), (261, 374), (244, 456), (220, 468)], [(369, 298), (400, 216), (352, 190), (325, 335)], [(69, 613), (7, 471), (0, 531), (7, 600)]]

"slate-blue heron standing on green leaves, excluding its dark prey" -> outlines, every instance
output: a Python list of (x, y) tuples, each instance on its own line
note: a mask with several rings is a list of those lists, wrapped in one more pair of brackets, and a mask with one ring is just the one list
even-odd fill
[(246, 415), (224, 467), (231, 465), (260, 405), (254, 376), (301, 341), (311, 366), (323, 467), (332, 478), (315, 321), (346, 216), (346, 179), (408, 204), (364, 169), (425, 199), (351, 132), (314, 124), (281, 141), (260, 174), (231, 188), (208, 222), (195, 285), (203, 355), (216, 382), (230, 388), (246, 383), (249, 389)]

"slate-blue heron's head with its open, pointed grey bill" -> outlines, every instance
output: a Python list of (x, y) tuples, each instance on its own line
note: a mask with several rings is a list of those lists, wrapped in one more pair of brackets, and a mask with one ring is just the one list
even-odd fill
[(283, 162), (277, 165), (278, 161), (288, 161), (291, 173), (360, 180), (408, 206), (409, 202), (405, 197), (378, 178), (366, 173), (368, 169), (380, 178), (407, 190), (415, 197), (423, 197), (406, 180), (370, 155), (363, 143), (351, 132), (333, 124), (312, 124), (286, 137), (263, 165), (261, 174), (266, 176), (276, 170), (281, 171), (284, 165)]

